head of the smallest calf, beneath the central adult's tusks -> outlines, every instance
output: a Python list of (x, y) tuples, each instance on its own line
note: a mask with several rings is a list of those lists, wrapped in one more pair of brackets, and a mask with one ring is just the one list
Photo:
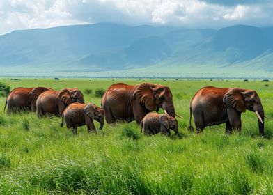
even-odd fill
[(169, 114), (162, 114), (159, 117), (159, 122), (161, 132), (167, 132), (167, 134), (169, 134), (169, 131), (167, 130), (171, 129), (178, 134), (178, 120), (176, 120), (176, 118), (173, 116), (169, 116)]

